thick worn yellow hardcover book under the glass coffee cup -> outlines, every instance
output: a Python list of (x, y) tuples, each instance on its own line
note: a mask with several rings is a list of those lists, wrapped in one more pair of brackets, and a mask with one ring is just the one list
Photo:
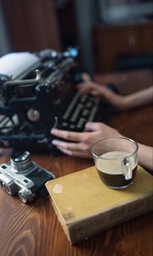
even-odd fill
[(46, 183), (54, 211), (71, 244), (153, 211), (153, 177), (138, 167), (127, 189), (109, 189), (95, 167)]

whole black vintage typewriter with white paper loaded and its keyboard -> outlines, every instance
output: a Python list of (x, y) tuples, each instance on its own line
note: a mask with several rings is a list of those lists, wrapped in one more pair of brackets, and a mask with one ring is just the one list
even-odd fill
[[(54, 154), (54, 126), (83, 131), (88, 121), (98, 120), (99, 99), (76, 90), (76, 84), (91, 79), (76, 56), (77, 49), (44, 49), (0, 58), (0, 148)], [(100, 110), (100, 119), (105, 113)]]

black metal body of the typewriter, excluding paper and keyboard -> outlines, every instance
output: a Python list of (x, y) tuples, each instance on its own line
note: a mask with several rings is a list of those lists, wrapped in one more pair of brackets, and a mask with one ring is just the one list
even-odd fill
[(50, 131), (57, 121), (61, 127), (67, 101), (83, 80), (82, 69), (70, 51), (46, 49), (33, 55), (38, 61), (28, 71), (23, 67), (21, 79), (0, 74), (0, 147), (53, 152)]

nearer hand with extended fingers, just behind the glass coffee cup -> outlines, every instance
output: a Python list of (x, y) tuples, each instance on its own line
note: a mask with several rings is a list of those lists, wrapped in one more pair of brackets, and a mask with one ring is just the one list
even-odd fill
[(87, 123), (85, 131), (61, 131), (52, 129), (51, 133), (56, 137), (61, 137), (68, 142), (54, 139), (53, 144), (65, 154), (79, 156), (82, 158), (92, 158), (91, 148), (94, 143), (105, 137), (120, 137), (121, 134), (115, 129), (103, 123)]

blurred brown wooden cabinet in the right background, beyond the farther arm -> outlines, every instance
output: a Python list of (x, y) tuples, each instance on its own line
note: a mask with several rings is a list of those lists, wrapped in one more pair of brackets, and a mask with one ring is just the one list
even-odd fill
[(94, 28), (96, 71), (116, 70), (121, 55), (153, 55), (153, 22)]

